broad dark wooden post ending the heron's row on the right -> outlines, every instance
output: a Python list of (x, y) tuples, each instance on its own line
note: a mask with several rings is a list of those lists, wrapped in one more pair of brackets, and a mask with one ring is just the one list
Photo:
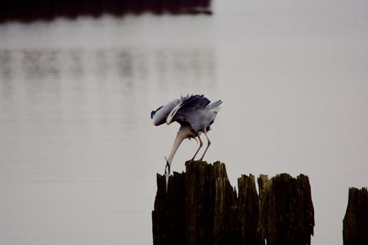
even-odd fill
[(268, 180), (261, 175), (258, 184), (262, 239), (271, 245), (311, 244), (315, 223), (308, 176), (278, 174)]

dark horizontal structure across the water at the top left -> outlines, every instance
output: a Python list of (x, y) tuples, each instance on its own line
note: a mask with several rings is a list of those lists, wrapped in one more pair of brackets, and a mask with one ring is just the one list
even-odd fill
[(3, 0), (0, 22), (53, 20), (103, 14), (212, 14), (210, 0)]

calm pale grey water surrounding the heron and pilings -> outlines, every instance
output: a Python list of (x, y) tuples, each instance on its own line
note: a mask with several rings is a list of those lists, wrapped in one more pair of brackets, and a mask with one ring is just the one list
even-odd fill
[(0, 244), (151, 244), (179, 125), (149, 114), (187, 93), (224, 101), (207, 161), (233, 185), (308, 175), (312, 242), (342, 244), (348, 188), (368, 186), (367, 1), (213, 8), (0, 25)]

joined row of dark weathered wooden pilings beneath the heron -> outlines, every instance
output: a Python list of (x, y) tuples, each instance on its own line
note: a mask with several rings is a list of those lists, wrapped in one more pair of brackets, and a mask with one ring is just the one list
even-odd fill
[(186, 162), (186, 172), (157, 174), (154, 244), (311, 244), (314, 210), (308, 177), (242, 175), (236, 193), (224, 163)]

